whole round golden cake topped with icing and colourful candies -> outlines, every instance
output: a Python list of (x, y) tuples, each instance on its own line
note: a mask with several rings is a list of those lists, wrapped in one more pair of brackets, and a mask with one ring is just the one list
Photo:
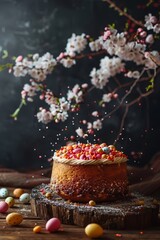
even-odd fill
[(113, 145), (77, 143), (53, 156), (51, 188), (72, 202), (106, 202), (128, 193), (127, 156)]

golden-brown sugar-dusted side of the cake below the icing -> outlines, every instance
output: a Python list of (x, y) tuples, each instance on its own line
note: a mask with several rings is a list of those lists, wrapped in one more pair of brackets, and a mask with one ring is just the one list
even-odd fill
[(54, 162), (51, 186), (66, 200), (112, 201), (127, 194), (126, 162), (112, 165), (69, 165)]

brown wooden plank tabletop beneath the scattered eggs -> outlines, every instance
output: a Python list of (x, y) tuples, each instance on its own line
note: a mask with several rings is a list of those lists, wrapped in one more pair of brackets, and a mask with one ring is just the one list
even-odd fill
[[(9, 188), (10, 193), (13, 189)], [(29, 191), (29, 190), (27, 190)], [(20, 212), (24, 220), (19, 226), (9, 226), (6, 224), (6, 215), (10, 212)], [(55, 233), (49, 233), (45, 230), (45, 220), (39, 219), (31, 213), (30, 204), (22, 204), (16, 200), (14, 207), (10, 208), (7, 213), (0, 213), (0, 240), (11, 239), (11, 240), (87, 240), (89, 239), (85, 233), (84, 228), (71, 225), (62, 225), (62, 228)], [(40, 225), (42, 227), (42, 232), (39, 234), (33, 233), (33, 227), (35, 225)], [(113, 239), (123, 239), (123, 240), (160, 240), (160, 223), (159, 226), (154, 229), (147, 229), (142, 231), (116, 231), (116, 230), (105, 230), (104, 235), (98, 239), (113, 240)]]

